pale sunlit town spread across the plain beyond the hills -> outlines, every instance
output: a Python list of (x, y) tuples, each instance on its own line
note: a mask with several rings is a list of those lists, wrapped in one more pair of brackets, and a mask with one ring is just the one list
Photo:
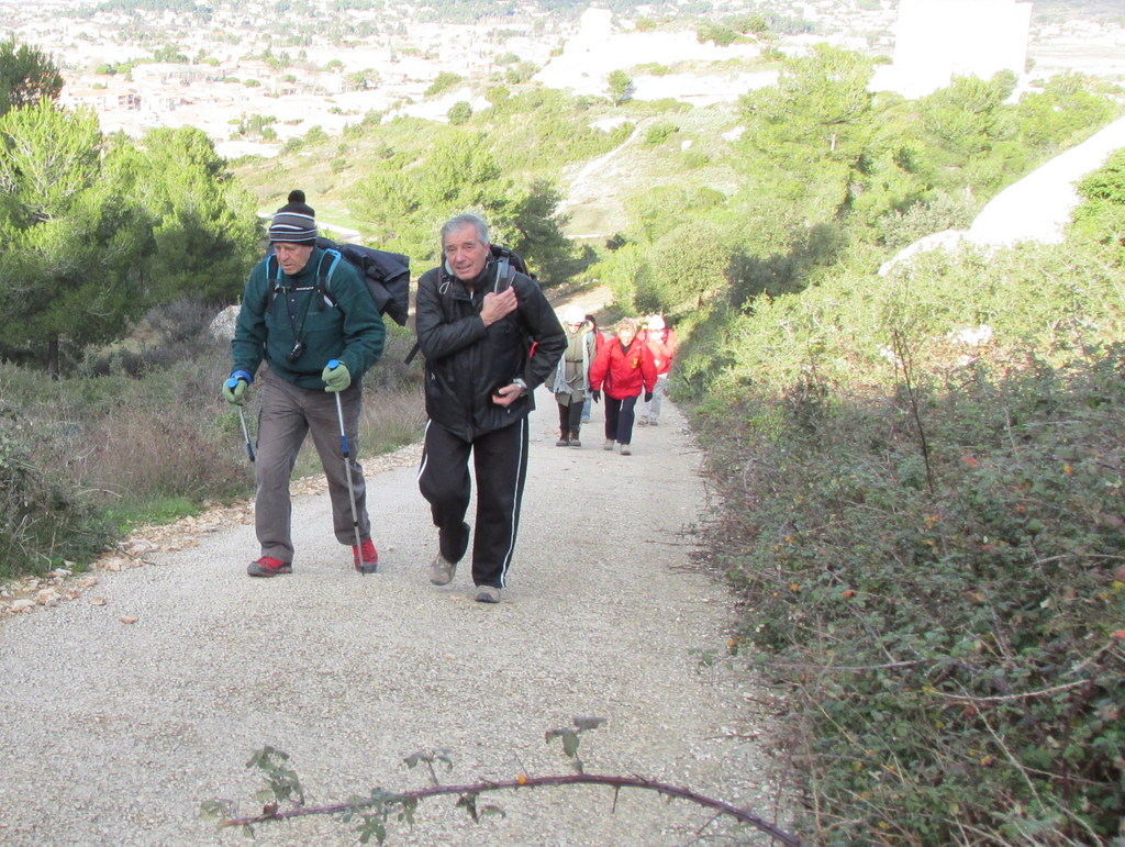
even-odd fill
[[(1029, 22), (1032, 4), (1014, 0), (785, 3), (808, 31), (777, 34), (768, 46), (793, 54), (826, 40), (893, 56), (901, 70), (908, 62), (896, 47), (907, 34), (898, 27), (911, 8), (925, 16), (935, 2), (945, 10), (942, 19), (954, 22), (945, 31), (926, 24), (930, 37), (917, 38), (925, 49), (908, 51), (919, 67), (910, 71), (909, 83), (888, 87), (918, 96), (943, 84), (943, 73), (945, 80), (956, 72), (988, 73), (990, 61), (999, 66), (1023, 63), (1012, 70), (1029, 79), (1074, 70), (1125, 80), (1120, 18), (1035, 24)], [(138, 17), (120, 10), (126, 6), (120, 2), (94, 7), (0, 0), (0, 37), (46, 52), (66, 79), (62, 103), (92, 109), (105, 132), (137, 136), (153, 127), (194, 126), (228, 157), (273, 155), (314, 127), (339, 134), (371, 115), (444, 119), (458, 101), (474, 109), (487, 106), (489, 84), (534, 80), (605, 96), (608, 74), (622, 70), (631, 75), (638, 99), (706, 103), (737, 99), (776, 79), (776, 70), (763, 62), (766, 42), (702, 43), (700, 17), (648, 17), (651, 8), (646, 6), (628, 17), (591, 8), (578, 18), (562, 18), (529, 4), (518, 15), (460, 24), (428, 19), (432, 16), (421, 13), (424, 9), (406, 4), (333, 11), (349, 4), (322, 0), (263, 21), (243, 3), (223, 0), (215, 0), (202, 17), (183, 11)], [(727, 3), (709, 17), (720, 20), (762, 6)], [(320, 12), (309, 16), (309, 7)], [(972, 33), (964, 31), (963, 15), (965, 20), (992, 21), (1004, 36), (978, 31), (982, 46), (968, 55)], [(954, 38), (957, 31), (964, 37)], [(958, 47), (964, 55), (956, 61), (964, 66), (943, 65)], [(917, 90), (910, 91), (911, 85)]]

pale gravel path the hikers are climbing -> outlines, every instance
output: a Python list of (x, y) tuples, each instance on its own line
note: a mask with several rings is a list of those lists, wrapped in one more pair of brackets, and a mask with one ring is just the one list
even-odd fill
[[(608, 720), (584, 736), (587, 772), (667, 780), (768, 817), (773, 789), (750, 738), (762, 721), (748, 705), (762, 693), (721, 664), (701, 670), (692, 652), (721, 651), (734, 603), (686, 567), (683, 530), (706, 503), (683, 418), (667, 408), (622, 457), (600, 449), (595, 406), (586, 445), (561, 449), (554, 402), (537, 399), (500, 605), (475, 603), (465, 573), (429, 584), (436, 537), (415, 449), (398, 467), (368, 463), (378, 575), (354, 573), (326, 531), (326, 497), (310, 494), (295, 501), (292, 576), (245, 576), (253, 526), (249, 510), (230, 510), (196, 547), (99, 570), (57, 606), (0, 615), (0, 844), (245, 844), (198, 809), (231, 798), (260, 811), (245, 763), (266, 745), (291, 755), (310, 804), (422, 787), (425, 774), (402, 759), (426, 748), (449, 750), (447, 783), (569, 773), (543, 736), (576, 715)], [(637, 791), (615, 811), (609, 790), (585, 787), (490, 802), (507, 816), (474, 825), (452, 799), (428, 801), (390, 843), (674, 845), (710, 819)], [(256, 843), (356, 839), (315, 818), (259, 828)]]

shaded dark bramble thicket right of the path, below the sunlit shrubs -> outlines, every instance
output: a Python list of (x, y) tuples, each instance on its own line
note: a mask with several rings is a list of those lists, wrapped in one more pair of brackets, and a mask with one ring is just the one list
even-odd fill
[(901, 390), (811, 371), (699, 409), (753, 609), (738, 649), (790, 686), (826, 844), (1117, 831), (1123, 353), (926, 379), (933, 493)]

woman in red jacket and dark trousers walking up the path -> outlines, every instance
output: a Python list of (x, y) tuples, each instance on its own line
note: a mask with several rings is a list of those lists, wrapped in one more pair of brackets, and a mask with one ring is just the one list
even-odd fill
[(621, 454), (632, 451), (633, 408), (641, 391), (645, 399), (652, 398), (656, 386), (656, 366), (652, 352), (637, 337), (637, 322), (622, 318), (618, 323), (618, 335), (609, 339), (594, 358), (590, 368), (590, 388), (597, 400), (605, 389), (605, 444), (613, 449), (614, 441), (621, 445)]

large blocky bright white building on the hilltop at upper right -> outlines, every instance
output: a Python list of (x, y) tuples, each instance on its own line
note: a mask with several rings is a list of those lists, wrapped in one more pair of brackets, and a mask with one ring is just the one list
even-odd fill
[(900, 0), (894, 63), (872, 88), (915, 99), (954, 76), (1023, 74), (1032, 4), (1016, 0)]

